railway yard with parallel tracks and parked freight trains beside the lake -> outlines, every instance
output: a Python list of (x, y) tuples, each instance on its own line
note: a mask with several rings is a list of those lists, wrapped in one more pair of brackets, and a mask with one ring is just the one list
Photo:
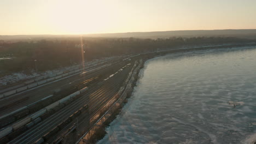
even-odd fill
[(138, 62), (117, 57), (1, 90), (0, 143), (74, 143), (118, 98)]

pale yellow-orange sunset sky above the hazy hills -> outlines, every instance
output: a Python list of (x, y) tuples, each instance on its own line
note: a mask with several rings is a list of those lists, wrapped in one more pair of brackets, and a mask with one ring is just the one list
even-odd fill
[(256, 29), (256, 0), (1, 0), (0, 35)]

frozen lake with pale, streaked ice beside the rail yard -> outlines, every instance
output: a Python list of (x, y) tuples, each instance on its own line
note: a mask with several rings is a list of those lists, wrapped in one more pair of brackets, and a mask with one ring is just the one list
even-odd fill
[(98, 143), (256, 140), (256, 49), (157, 57), (146, 62), (140, 76), (129, 102)]

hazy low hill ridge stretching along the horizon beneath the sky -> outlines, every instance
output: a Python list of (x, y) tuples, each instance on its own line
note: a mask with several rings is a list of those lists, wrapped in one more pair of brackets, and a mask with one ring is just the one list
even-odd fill
[[(38, 40), (76, 38), (80, 35), (0, 35), (0, 40)], [(83, 34), (90, 38), (170, 38), (170, 37), (237, 37), (256, 39), (256, 29), (222, 29), (222, 30), (191, 30), (191, 31), (165, 31), (165, 32), (129, 32), (129, 33), (102, 33)]]

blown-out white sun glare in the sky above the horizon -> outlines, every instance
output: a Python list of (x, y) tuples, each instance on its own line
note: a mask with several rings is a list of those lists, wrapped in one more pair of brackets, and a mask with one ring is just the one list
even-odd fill
[(97, 33), (107, 28), (109, 12), (107, 3), (98, 1), (54, 3), (49, 21), (59, 33), (64, 29), (69, 34)]

